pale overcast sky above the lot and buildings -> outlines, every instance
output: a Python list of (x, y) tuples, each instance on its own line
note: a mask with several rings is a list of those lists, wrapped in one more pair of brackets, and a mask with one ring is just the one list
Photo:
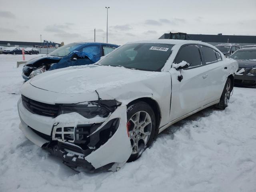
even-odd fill
[(108, 42), (167, 32), (256, 35), (256, 0), (0, 0), (0, 40)]

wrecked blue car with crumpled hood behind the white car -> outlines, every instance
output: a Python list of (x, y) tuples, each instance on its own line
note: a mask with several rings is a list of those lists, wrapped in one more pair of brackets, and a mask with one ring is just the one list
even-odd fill
[(118, 48), (115, 44), (96, 42), (76, 42), (64, 45), (46, 56), (29, 60), (23, 67), (25, 81), (42, 72), (69, 66), (88, 65), (100, 60), (101, 56)]

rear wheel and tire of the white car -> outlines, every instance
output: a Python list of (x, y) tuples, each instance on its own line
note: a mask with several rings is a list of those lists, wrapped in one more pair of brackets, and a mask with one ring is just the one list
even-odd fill
[(224, 89), (222, 91), (220, 102), (216, 104), (216, 108), (224, 110), (228, 106), (230, 92), (231, 92), (231, 80), (230, 78), (227, 79)]

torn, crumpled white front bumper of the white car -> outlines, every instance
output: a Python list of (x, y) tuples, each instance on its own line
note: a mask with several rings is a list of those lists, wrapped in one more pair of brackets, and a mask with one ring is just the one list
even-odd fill
[[(80, 119), (74, 118), (72, 120), (71, 114), (70, 119), (66, 119), (64, 122), (56, 122), (56, 120), (58, 121), (62, 118), (50, 118), (32, 114), (24, 108), (21, 99), (18, 101), (18, 112), (21, 120), (19, 128), (25, 136), (36, 145), (62, 158), (70, 166), (97, 169), (111, 165), (109, 170), (116, 171), (128, 160), (132, 153), (126, 130), (126, 105), (118, 106), (104, 122), (93, 122), (94, 118), (86, 119), (83, 116)], [(68, 116), (69, 114), (65, 115)], [(104, 137), (106, 132), (101, 132), (101, 130), (107, 130), (109, 122), (113, 122), (116, 119), (119, 122), (118, 128), (113, 135), (106, 139)], [(96, 118), (96, 120), (98, 119)], [(88, 124), (97, 124), (96, 127), (94, 126), (93, 132), (89, 131), (89, 133), (85, 134), (90, 140), (89, 143), (86, 143), (88, 146), (83, 147), (83, 144), (79, 142), (68, 141), (74, 140), (74, 136), (78, 133), (75, 132), (76, 128)], [(72, 133), (71, 139), (64, 136), (68, 131)], [(56, 134), (59, 134), (59, 137)], [(60, 134), (63, 134), (63, 137)], [(99, 146), (97, 138), (98, 140), (105, 138), (106, 142), (100, 143), (102, 145)]]

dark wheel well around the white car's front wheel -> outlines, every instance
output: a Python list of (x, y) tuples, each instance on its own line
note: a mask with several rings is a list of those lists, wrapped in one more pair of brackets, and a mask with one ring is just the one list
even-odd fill
[(138, 98), (138, 99), (133, 100), (132, 102), (128, 103), (127, 107), (132, 105), (134, 102), (138, 102), (138, 101), (143, 101), (143, 102), (147, 103), (150, 107), (152, 107), (154, 114), (156, 116), (156, 135), (157, 135), (158, 131), (159, 131), (160, 120), (161, 120), (161, 112), (160, 112), (160, 107), (159, 107), (158, 103), (155, 100), (153, 100), (152, 98), (143, 97), (143, 98)]

